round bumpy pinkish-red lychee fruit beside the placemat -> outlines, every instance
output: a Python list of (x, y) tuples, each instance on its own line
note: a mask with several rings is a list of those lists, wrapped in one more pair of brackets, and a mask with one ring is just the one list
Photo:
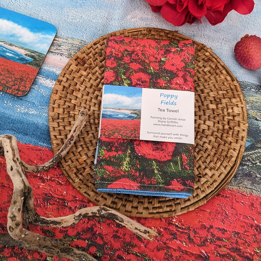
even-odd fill
[(257, 70), (261, 68), (261, 38), (246, 34), (234, 48), (237, 61), (245, 68)]

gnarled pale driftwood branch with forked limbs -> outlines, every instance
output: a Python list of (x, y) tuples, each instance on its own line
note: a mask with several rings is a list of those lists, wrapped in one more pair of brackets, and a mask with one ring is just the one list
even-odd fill
[(33, 191), (27, 181), (25, 172), (33, 173), (45, 171), (61, 160), (69, 151), (81, 128), (84, 126), (87, 115), (88, 112), (85, 110), (80, 112), (68, 140), (64, 143), (62, 148), (47, 163), (39, 166), (30, 166), (21, 160), (17, 146), (17, 139), (14, 136), (0, 136), (0, 153), (5, 157), (7, 173), (14, 185), (12, 202), (7, 217), (9, 236), (6, 236), (7, 234), (1, 234), (0, 242), (2, 241), (2, 238), (4, 238), (8, 239), (10, 245), (16, 244), (17, 246), (26, 249), (38, 250), (47, 255), (60, 258), (64, 257), (77, 261), (93, 261), (95, 259), (86, 252), (71, 247), (68, 240), (63, 238), (45, 237), (33, 233), (24, 229), (23, 224), (27, 227), (29, 224), (45, 227), (68, 227), (75, 225), (83, 218), (102, 216), (114, 220), (140, 237), (152, 240), (152, 237), (157, 235), (155, 231), (148, 229), (131, 218), (107, 207), (97, 206), (84, 208), (74, 214), (64, 217), (47, 218), (36, 213), (33, 204)]

